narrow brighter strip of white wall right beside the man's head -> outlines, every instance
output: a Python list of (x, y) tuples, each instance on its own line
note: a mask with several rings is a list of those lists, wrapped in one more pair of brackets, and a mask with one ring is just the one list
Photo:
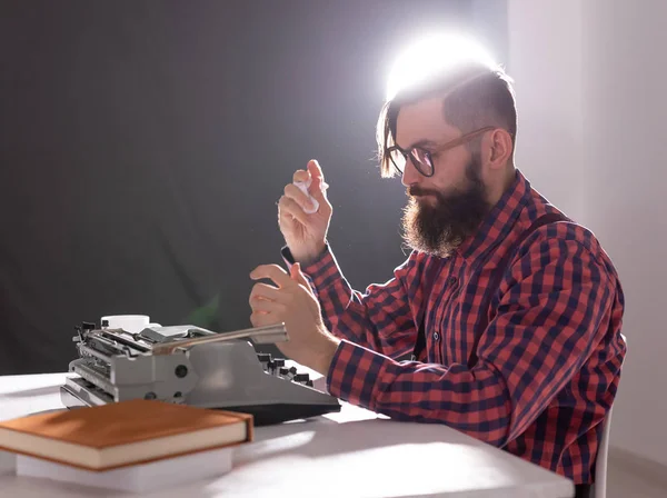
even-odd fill
[(508, 1), (507, 69), (519, 114), (516, 162), (532, 187), (574, 218), (583, 216), (584, 166), (578, 11), (578, 0)]

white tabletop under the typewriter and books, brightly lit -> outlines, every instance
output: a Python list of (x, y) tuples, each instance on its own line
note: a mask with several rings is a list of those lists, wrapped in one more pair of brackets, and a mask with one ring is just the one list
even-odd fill
[[(0, 420), (63, 408), (64, 378), (0, 377)], [(0, 496), (137, 495), (6, 474)], [(230, 474), (150, 496), (560, 498), (574, 496), (574, 485), (446, 426), (396, 422), (345, 404), (339, 414), (258, 427), (255, 442), (236, 450)]]

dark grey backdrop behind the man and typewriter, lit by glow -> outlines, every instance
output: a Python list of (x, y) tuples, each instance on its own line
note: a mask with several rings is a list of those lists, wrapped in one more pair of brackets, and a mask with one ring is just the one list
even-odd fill
[(276, 201), (318, 158), (349, 281), (405, 255), (375, 123), (394, 52), (481, 1), (0, 3), (0, 374), (63, 371), (73, 326), (146, 313), (249, 327), (248, 272), (280, 262)]

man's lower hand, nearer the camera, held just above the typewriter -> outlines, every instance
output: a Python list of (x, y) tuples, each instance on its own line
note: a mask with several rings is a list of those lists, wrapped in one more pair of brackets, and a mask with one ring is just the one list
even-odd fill
[(250, 272), (250, 278), (268, 278), (276, 285), (256, 283), (252, 287), (252, 326), (283, 322), (289, 340), (276, 346), (295, 361), (326, 376), (340, 340), (325, 327), (319, 302), (299, 263), (291, 267), (291, 275), (277, 265), (261, 265)]

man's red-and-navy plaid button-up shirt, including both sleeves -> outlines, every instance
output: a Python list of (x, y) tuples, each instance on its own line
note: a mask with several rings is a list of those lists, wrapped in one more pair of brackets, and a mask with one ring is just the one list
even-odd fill
[[(586, 228), (550, 223), (510, 257), (500, 287), (487, 288), (512, 241), (555, 211), (517, 171), (451, 257), (415, 251), (365, 293), (350, 288), (327, 245), (303, 272), (325, 323), (342, 339), (329, 392), (397, 420), (445, 424), (576, 484), (593, 482), (626, 353), (624, 297), (611, 261)], [(290, 265), (289, 251), (282, 255)], [(486, 292), (494, 293), (489, 310), (480, 309)], [(485, 312), (478, 360), (468, 368)], [(399, 360), (415, 346), (418, 317), (426, 350), (417, 361)]]

